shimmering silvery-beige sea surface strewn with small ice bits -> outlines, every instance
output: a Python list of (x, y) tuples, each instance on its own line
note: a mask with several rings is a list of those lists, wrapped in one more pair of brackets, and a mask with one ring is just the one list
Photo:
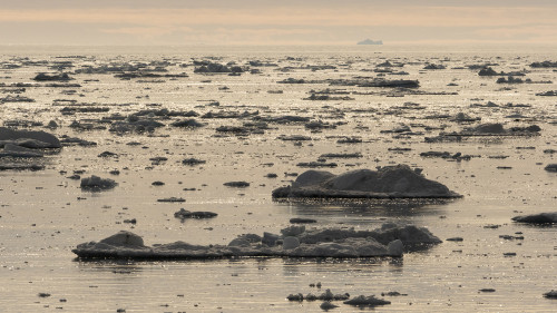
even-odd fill
[[(42, 156), (32, 159), (1, 159), (4, 311), (322, 312), (321, 302), (286, 296), (326, 288), (352, 296), (408, 294), (384, 296), (391, 304), (381, 310), (393, 312), (555, 309), (544, 293), (556, 288), (556, 228), (511, 221), (555, 212), (557, 176), (544, 169), (556, 163), (555, 97), (537, 95), (557, 90), (547, 82), (557, 78), (555, 68), (530, 66), (556, 61), (555, 49), (2, 51), (2, 126), (43, 130), (63, 145), (38, 149)], [(478, 75), (486, 65), (531, 82), (498, 84), (498, 77)], [(229, 71), (194, 72), (203, 66)], [(72, 79), (33, 80), (40, 72)], [(364, 87), (395, 80), (419, 87)], [(172, 126), (184, 120), (185, 127)], [(486, 124), (540, 130), (461, 136)], [(41, 167), (28, 166), (35, 163)], [(463, 197), (271, 196), (309, 169), (341, 175), (398, 164), (423, 169), (426, 178)], [(14, 166), (38, 170), (9, 169)], [(91, 176), (117, 185), (81, 189), (80, 179)], [(224, 185), (231, 182), (248, 185)], [(170, 198), (185, 202), (158, 202)], [(175, 218), (180, 208), (218, 215)], [(306, 227), (358, 231), (413, 224), (444, 242), (401, 260), (81, 262), (71, 253), (123, 229), (140, 234), (146, 245), (225, 245), (245, 233), (276, 234), (293, 217), (316, 221)], [(462, 241), (446, 241), (456, 237)], [(321, 290), (310, 286), (317, 282)]]

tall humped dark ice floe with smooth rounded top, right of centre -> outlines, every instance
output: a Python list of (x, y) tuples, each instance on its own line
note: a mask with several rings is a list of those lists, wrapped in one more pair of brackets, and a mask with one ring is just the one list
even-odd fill
[(311, 198), (455, 198), (461, 195), (441, 183), (427, 179), (421, 169), (408, 165), (378, 170), (356, 169), (341, 175), (307, 170), (292, 186), (273, 190), (273, 197)]

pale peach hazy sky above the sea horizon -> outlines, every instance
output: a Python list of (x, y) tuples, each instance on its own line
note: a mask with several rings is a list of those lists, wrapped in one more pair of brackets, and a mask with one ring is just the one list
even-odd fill
[(557, 0), (0, 0), (0, 45), (557, 43)]

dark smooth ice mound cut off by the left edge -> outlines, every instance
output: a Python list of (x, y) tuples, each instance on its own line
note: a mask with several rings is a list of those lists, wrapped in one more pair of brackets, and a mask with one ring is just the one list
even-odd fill
[(0, 127), (0, 141), (36, 149), (61, 148), (60, 140), (55, 135), (42, 130), (14, 130)]

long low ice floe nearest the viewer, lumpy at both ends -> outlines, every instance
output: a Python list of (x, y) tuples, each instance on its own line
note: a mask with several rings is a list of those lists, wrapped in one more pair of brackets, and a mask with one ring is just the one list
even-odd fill
[(374, 257), (402, 256), (404, 251), (441, 243), (427, 228), (413, 225), (384, 224), (380, 229), (354, 228), (305, 229), (290, 226), (282, 235), (244, 234), (228, 245), (194, 245), (185, 242), (146, 246), (144, 239), (121, 231), (100, 242), (77, 245), (72, 252), (80, 258), (221, 258), (221, 257)]

